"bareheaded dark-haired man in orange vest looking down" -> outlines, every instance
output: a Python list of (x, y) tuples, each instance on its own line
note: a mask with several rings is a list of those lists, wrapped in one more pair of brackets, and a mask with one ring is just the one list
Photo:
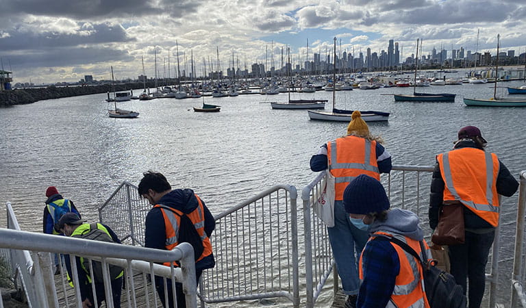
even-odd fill
[[(195, 251), (196, 281), (203, 270), (216, 264), (210, 235), (216, 222), (204, 201), (190, 189), (172, 190), (166, 177), (159, 172), (145, 172), (138, 185), (138, 193), (153, 207), (147, 214), (145, 247), (170, 251), (181, 242), (188, 242)], [(164, 263), (170, 266), (169, 262)], [(174, 266), (179, 266), (177, 262)], [(155, 288), (163, 307), (175, 307), (171, 279), (166, 279), (168, 303), (164, 298), (164, 279), (155, 277)], [(181, 283), (175, 283), (177, 307), (186, 307)]]

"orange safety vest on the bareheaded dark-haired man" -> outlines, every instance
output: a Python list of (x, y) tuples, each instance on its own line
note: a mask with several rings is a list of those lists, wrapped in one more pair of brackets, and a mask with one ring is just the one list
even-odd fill
[[(171, 251), (175, 246), (179, 244), (178, 238), (181, 216), (186, 215), (188, 216), (188, 218), (190, 218), (190, 221), (192, 221), (192, 223), (194, 224), (197, 233), (203, 241), (203, 253), (201, 253), (201, 256), (197, 260), (195, 260), (197, 263), (197, 261), (200, 261), (204, 257), (207, 257), (208, 255), (212, 254), (212, 244), (210, 243), (210, 238), (208, 238), (208, 235), (205, 233), (205, 211), (203, 203), (201, 203), (201, 199), (199, 198), (199, 196), (197, 196), (197, 194), (195, 195), (195, 197), (197, 198), (197, 203), (199, 203), (199, 205), (190, 214), (184, 214), (178, 209), (174, 209), (173, 207), (168, 207), (162, 204), (155, 205), (154, 207), (160, 207), (162, 217), (164, 218), (164, 227), (166, 228), (165, 247), (168, 251)], [(173, 262), (173, 264), (174, 266), (179, 266), (179, 264), (177, 264), (177, 262), (175, 261)], [(170, 262), (164, 262), (164, 265), (170, 266)]]

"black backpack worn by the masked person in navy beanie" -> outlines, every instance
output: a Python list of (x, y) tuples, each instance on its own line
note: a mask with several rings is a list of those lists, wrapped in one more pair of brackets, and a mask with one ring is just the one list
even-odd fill
[[(437, 268), (434, 260), (429, 262), (423, 261), (413, 248), (397, 238), (377, 236), (375, 240), (384, 240), (395, 243), (420, 261), (424, 274), (425, 296), (427, 297), (427, 301), (431, 308), (466, 307), (467, 301), (466, 296), (462, 291), (462, 287), (456, 283), (453, 275)], [(420, 241), (420, 247), (422, 251), (425, 251), (422, 241)]]

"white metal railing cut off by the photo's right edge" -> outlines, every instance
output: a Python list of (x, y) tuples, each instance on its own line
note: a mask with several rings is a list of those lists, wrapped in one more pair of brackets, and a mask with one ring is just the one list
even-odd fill
[(524, 251), (524, 231), (526, 212), (526, 170), (521, 172), (520, 185), (518, 188), (517, 221), (515, 229), (515, 251), (513, 257), (512, 272), (512, 298), (510, 307), (526, 307), (526, 290), (523, 283), (526, 279), (525, 266), (526, 255)]

